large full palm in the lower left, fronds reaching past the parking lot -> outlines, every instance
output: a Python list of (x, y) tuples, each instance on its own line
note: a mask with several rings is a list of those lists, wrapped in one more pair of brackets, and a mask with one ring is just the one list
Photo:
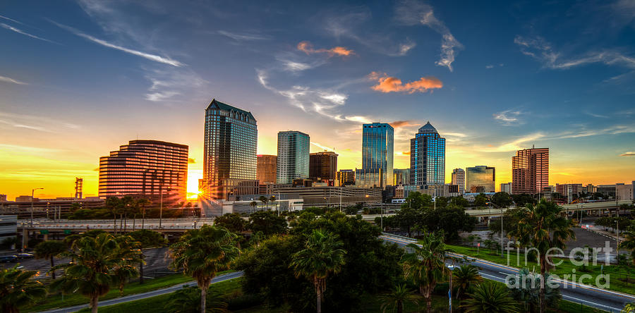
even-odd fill
[(122, 250), (120, 243), (109, 233), (75, 240), (71, 251), (60, 254), (73, 259), (73, 262), (59, 264), (51, 269), (64, 270), (64, 276), (54, 281), (51, 288), (60, 289), (63, 293), (85, 295), (90, 299), (90, 309), (96, 313), (99, 297), (107, 294), (111, 283), (116, 282), (116, 268), (128, 262), (126, 255), (121, 254)]

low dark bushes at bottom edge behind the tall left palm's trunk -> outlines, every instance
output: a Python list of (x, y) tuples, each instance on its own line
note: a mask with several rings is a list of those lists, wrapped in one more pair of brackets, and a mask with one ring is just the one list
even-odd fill
[[(172, 313), (198, 313), (200, 312), (200, 293), (195, 287), (183, 286), (182, 289), (176, 290), (171, 293), (167, 302), (164, 305), (164, 309), (167, 312)], [(227, 309), (227, 302), (222, 300), (220, 293), (207, 293), (207, 299), (205, 300), (207, 312), (212, 313), (225, 313), (229, 312)]]

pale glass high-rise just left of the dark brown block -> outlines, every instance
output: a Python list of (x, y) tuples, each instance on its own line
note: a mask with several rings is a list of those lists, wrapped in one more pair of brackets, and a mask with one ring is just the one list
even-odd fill
[(276, 181), (290, 184), (296, 178), (309, 177), (309, 135), (296, 130), (278, 133)]

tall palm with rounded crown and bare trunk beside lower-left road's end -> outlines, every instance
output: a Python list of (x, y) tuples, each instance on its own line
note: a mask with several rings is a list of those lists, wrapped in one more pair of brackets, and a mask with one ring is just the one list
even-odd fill
[(218, 271), (227, 269), (240, 250), (236, 247), (236, 235), (222, 227), (203, 225), (187, 231), (178, 243), (170, 247), (173, 269), (183, 269), (192, 276), (200, 288), (200, 312), (205, 313), (207, 288)]

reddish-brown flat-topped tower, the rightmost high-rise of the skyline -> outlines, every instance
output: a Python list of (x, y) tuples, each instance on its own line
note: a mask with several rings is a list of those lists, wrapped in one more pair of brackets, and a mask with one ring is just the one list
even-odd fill
[(519, 150), (512, 156), (512, 195), (542, 192), (549, 185), (549, 148)]

